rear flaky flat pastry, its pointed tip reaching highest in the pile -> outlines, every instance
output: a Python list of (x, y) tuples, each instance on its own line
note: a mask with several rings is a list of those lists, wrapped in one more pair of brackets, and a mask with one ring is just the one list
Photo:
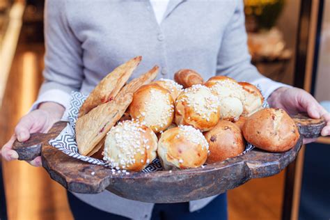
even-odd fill
[(107, 74), (88, 95), (79, 109), (78, 117), (84, 116), (88, 111), (91, 111), (102, 103), (113, 100), (129, 77), (131, 77), (132, 72), (139, 65), (141, 59), (141, 56), (136, 56)]

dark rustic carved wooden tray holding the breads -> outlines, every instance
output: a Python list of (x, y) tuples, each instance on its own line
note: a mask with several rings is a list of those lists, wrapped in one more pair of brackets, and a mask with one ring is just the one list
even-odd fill
[[(13, 149), (19, 159), (42, 157), (42, 166), (69, 191), (97, 194), (107, 189), (123, 198), (148, 203), (180, 203), (221, 194), (238, 187), (252, 178), (264, 178), (279, 173), (294, 160), (302, 144), (302, 138), (320, 135), (324, 120), (312, 120), (306, 116), (294, 116), (301, 137), (296, 146), (283, 153), (253, 149), (245, 155), (210, 164), (204, 168), (154, 173), (111, 172), (111, 169), (82, 162), (49, 146), (67, 122), (58, 122), (48, 134), (32, 134), (24, 143), (15, 141)], [(301, 118), (301, 120), (299, 120)]]

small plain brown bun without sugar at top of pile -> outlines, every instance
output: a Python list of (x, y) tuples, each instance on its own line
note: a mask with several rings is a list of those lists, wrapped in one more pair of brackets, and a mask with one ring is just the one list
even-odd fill
[(194, 70), (183, 69), (175, 72), (174, 81), (182, 85), (183, 88), (189, 88), (197, 84), (203, 84), (204, 80), (198, 72)]

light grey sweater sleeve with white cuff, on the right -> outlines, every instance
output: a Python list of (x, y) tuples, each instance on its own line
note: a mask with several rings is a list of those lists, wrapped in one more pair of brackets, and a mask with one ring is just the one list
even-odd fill
[(264, 77), (251, 64), (251, 56), (247, 47), (243, 0), (237, 0), (235, 12), (223, 33), (217, 59), (217, 74), (231, 77), (237, 81), (258, 84), (266, 99), (277, 88), (287, 86)]

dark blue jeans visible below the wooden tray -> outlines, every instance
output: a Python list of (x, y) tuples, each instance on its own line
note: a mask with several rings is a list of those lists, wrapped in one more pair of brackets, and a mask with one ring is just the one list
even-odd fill
[[(68, 192), (68, 200), (74, 219), (114, 219), (124, 220), (125, 217), (120, 217), (116, 214), (98, 210), (91, 205), (79, 200), (76, 196)], [(195, 219), (217, 219), (226, 220), (227, 213), (227, 194), (221, 194), (207, 204), (203, 209), (196, 212), (189, 212), (189, 203), (164, 203), (155, 204), (152, 210), (152, 220), (195, 220)]]

